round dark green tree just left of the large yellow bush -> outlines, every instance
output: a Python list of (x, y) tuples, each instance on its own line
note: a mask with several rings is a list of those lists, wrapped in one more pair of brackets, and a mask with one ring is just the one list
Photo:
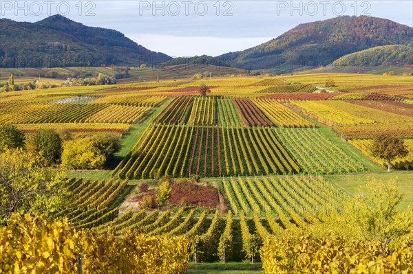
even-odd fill
[(37, 130), (32, 137), (32, 146), (36, 152), (41, 153), (45, 157), (49, 165), (56, 163), (61, 157), (62, 140), (54, 130)]

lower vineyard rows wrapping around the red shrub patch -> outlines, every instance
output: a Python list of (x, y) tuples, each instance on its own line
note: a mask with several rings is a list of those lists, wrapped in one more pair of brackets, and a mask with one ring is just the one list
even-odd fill
[[(98, 234), (114, 231), (121, 235), (137, 231), (147, 236), (183, 236), (197, 246), (191, 257), (202, 261), (217, 258), (217, 252), (225, 244), (222, 242), (225, 238), (218, 237), (220, 233), (242, 238), (244, 246), (253, 240), (250, 231), (256, 231), (261, 239), (256, 247), (258, 251), (266, 237), (279, 235), (285, 229), (302, 229), (315, 222), (315, 216), (322, 220), (328, 212), (339, 212), (348, 199), (321, 176), (227, 178), (219, 181), (219, 190), (240, 220), (233, 219), (231, 213), (222, 218), (218, 211), (204, 209), (197, 213), (187, 207), (150, 212), (140, 209), (120, 214), (119, 196), (127, 192), (127, 183), (73, 179), (69, 186), (73, 193), (72, 207), (63, 214), (76, 229), (90, 228)], [(237, 226), (241, 227), (241, 232), (237, 231)], [(227, 244), (232, 245), (231, 242)], [(251, 258), (251, 251), (244, 249), (234, 256)], [(258, 260), (258, 253), (256, 257)], [(227, 260), (229, 258), (228, 255)]]

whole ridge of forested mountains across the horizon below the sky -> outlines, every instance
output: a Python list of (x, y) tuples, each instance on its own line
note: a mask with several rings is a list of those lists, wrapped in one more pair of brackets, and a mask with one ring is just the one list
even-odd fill
[(58, 14), (36, 23), (0, 19), (0, 41), (1, 67), (165, 66), (187, 62), (252, 70), (282, 65), (317, 67), (372, 47), (412, 45), (413, 28), (370, 16), (339, 16), (300, 24), (241, 52), (172, 59), (116, 30), (88, 27)]

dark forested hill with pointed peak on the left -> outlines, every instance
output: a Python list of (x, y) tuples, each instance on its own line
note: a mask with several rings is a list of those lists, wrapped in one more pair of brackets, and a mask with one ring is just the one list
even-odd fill
[(157, 65), (171, 59), (116, 30), (88, 27), (61, 15), (36, 23), (0, 19), (0, 40), (2, 67)]

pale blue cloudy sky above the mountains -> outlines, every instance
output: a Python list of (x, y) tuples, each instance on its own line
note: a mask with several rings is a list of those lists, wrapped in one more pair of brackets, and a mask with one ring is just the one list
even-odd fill
[(172, 57), (218, 56), (265, 43), (300, 23), (368, 15), (413, 27), (413, 1), (0, 1), (0, 16), (35, 22), (62, 14), (118, 30)]

